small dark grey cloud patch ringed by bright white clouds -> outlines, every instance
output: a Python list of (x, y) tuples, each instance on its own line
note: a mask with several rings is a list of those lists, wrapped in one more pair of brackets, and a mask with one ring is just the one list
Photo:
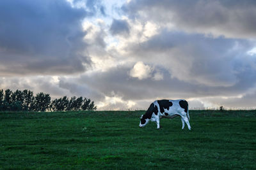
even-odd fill
[(116, 34), (129, 34), (130, 29), (129, 29), (129, 24), (127, 23), (126, 20), (113, 20), (111, 27), (110, 27), (110, 32), (113, 35)]

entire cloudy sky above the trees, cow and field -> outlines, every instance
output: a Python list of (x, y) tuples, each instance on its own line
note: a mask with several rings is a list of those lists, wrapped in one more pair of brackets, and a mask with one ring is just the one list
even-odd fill
[(256, 1), (1, 0), (0, 89), (255, 108)]

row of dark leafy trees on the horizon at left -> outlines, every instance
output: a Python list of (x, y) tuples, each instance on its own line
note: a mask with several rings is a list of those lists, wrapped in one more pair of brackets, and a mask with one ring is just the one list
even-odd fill
[(51, 101), (50, 94), (31, 90), (0, 90), (0, 111), (81, 111), (96, 110), (94, 102), (86, 97), (67, 96)]

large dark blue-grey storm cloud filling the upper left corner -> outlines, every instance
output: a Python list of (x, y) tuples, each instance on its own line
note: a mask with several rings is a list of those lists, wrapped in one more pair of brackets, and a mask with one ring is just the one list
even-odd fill
[(81, 20), (63, 0), (0, 1), (0, 74), (82, 72), (90, 66)]

